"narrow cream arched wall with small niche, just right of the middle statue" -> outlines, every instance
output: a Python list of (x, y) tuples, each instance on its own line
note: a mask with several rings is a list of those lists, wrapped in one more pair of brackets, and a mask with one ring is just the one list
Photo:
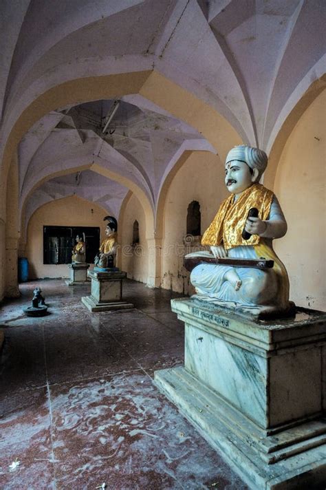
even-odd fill
[[(139, 246), (132, 247), (133, 223), (139, 224)], [(127, 272), (129, 279), (147, 282), (148, 274), (148, 246), (146, 241), (146, 220), (144, 210), (138, 198), (133, 194), (124, 210), (122, 229), (119, 228), (121, 239), (120, 254), (122, 259), (122, 270)]]

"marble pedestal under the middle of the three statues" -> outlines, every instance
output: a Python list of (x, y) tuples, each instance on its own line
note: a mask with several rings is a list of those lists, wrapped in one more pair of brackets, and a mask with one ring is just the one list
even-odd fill
[(91, 296), (82, 297), (82, 302), (91, 311), (122, 310), (133, 308), (132, 303), (122, 300), (122, 279), (127, 273), (121, 270), (89, 273)]

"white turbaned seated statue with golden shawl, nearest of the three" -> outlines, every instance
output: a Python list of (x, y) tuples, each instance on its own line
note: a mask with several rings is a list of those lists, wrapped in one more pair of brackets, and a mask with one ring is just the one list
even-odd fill
[[(286, 312), (293, 308), (287, 272), (272, 248), (272, 240), (285, 235), (287, 224), (274, 193), (258, 183), (267, 163), (266, 153), (257, 148), (240, 145), (229, 151), (225, 183), (231, 195), (221, 203), (202, 245), (210, 246), (211, 257), (264, 258), (273, 260), (274, 266), (261, 270), (199, 263), (191, 273), (198, 299), (249, 310), (263, 307)], [(253, 208), (256, 211), (249, 213)], [(257, 217), (252, 216), (255, 213)]]

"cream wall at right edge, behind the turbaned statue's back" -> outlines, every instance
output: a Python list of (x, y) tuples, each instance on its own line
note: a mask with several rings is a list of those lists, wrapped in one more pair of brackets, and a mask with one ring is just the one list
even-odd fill
[(287, 267), (290, 297), (299, 306), (326, 310), (326, 92), (298, 121), (276, 172), (278, 196), (288, 231), (275, 240)]

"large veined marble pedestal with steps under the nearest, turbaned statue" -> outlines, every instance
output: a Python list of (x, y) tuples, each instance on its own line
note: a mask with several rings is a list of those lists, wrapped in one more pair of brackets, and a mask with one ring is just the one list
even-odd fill
[(185, 323), (184, 367), (155, 384), (250, 489), (316, 488), (326, 481), (326, 313), (246, 320), (173, 299)]

